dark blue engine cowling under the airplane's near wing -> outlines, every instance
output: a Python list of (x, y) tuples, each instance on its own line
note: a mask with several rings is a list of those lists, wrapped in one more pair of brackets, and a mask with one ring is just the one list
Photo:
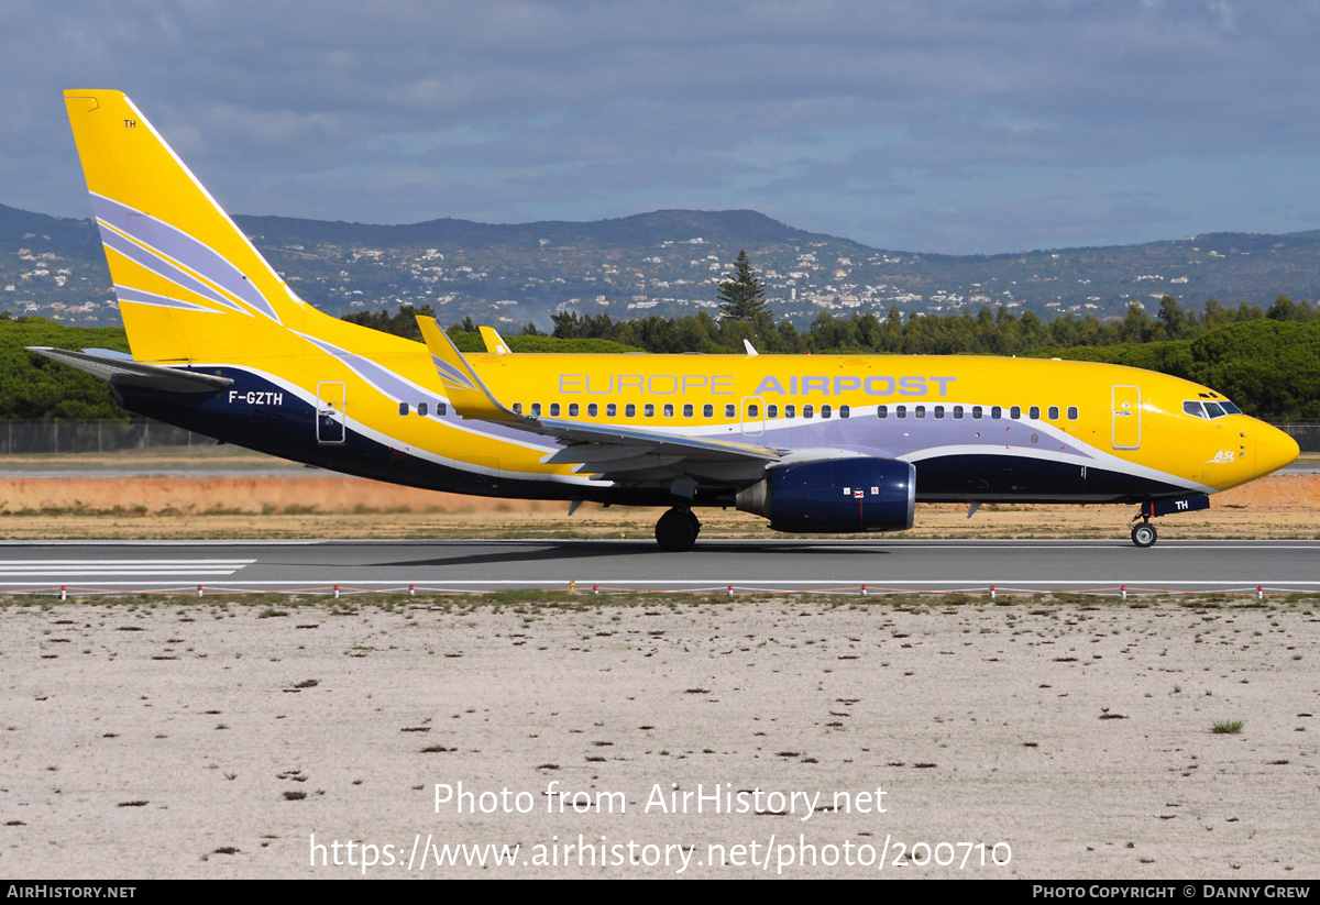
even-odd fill
[(738, 493), (776, 532), (902, 532), (915, 504), (912, 464), (862, 456), (779, 466)]

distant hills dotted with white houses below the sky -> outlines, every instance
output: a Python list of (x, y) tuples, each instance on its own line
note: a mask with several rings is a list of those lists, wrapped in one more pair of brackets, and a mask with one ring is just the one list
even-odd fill
[[(1119, 317), (1164, 294), (1200, 307), (1320, 297), (1320, 231), (1206, 234), (1018, 255), (925, 255), (796, 230), (755, 211), (655, 211), (591, 223), (440, 219), (372, 226), (281, 216), (236, 223), (309, 302), (341, 315), (430, 303), (441, 321), (548, 327), (556, 310), (612, 318), (715, 310), (746, 249), (777, 318), (828, 310)], [(117, 325), (91, 220), (0, 204), (0, 311)]]

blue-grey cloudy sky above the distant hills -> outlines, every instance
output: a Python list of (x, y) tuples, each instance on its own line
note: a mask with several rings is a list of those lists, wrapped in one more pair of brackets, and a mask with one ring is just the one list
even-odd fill
[[(90, 8), (90, 11), (88, 11)], [(754, 208), (917, 252), (1320, 227), (1320, 4), (0, 0), (0, 203), (121, 88), (236, 214)]]

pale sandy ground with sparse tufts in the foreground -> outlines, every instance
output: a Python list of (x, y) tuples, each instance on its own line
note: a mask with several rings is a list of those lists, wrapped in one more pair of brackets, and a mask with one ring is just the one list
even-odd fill
[[(358, 876), (354, 840), (400, 877), (430, 839), (521, 848), (422, 876), (675, 876), (685, 851), (686, 876), (1316, 879), (1315, 603), (9, 606), (0, 873)], [(437, 813), (437, 784), (531, 813)], [(653, 798), (717, 788), (813, 809)], [(605, 867), (535, 864), (579, 834)], [(883, 872), (824, 864), (886, 843)], [(895, 867), (916, 843), (985, 848)]]

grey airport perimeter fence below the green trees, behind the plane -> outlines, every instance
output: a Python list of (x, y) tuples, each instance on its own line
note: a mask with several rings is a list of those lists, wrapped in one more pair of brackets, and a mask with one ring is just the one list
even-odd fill
[[(1275, 425), (1298, 441), (1303, 452), (1320, 452), (1320, 422)], [(0, 425), (0, 454), (115, 452), (215, 441), (150, 418), (132, 421), (7, 421)]]

